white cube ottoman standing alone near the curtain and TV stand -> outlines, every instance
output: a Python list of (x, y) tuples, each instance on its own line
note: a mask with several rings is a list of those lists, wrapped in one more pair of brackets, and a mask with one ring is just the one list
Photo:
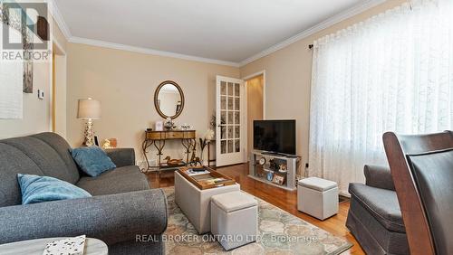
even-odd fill
[(338, 185), (317, 177), (300, 180), (297, 210), (325, 220), (338, 213)]

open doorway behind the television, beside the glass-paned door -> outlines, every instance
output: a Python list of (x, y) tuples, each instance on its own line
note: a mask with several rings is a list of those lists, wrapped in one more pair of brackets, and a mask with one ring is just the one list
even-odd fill
[(254, 148), (254, 120), (265, 119), (265, 71), (247, 77), (244, 80), (246, 83), (246, 158), (249, 158)]

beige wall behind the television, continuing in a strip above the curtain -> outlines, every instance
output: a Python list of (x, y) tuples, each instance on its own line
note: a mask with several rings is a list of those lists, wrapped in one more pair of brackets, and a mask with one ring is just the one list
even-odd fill
[(265, 70), (266, 118), (296, 119), (297, 154), (302, 156), (303, 164), (308, 162), (310, 84), (313, 57), (313, 52), (308, 49), (308, 45), (323, 35), (334, 33), (349, 25), (364, 21), (372, 15), (380, 14), (405, 2), (407, 1), (389, 0), (241, 68), (241, 77)]

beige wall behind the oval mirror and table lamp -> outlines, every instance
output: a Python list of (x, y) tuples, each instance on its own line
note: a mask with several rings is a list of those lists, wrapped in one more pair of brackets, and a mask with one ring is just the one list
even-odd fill
[[(204, 136), (215, 110), (216, 75), (239, 77), (239, 69), (197, 61), (178, 60), (136, 52), (125, 52), (77, 43), (67, 45), (68, 97), (67, 136), (72, 146), (82, 144), (82, 120), (76, 118), (77, 100), (92, 97), (101, 101), (102, 118), (94, 120), (101, 140), (118, 139), (120, 147), (134, 147), (143, 160), (144, 130), (159, 117), (154, 91), (164, 80), (176, 81), (184, 91), (185, 106), (177, 125), (188, 123)], [(156, 159), (156, 149), (149, 156)], [(183, 158), (178, 141), (166, 145), (164, 156)]]

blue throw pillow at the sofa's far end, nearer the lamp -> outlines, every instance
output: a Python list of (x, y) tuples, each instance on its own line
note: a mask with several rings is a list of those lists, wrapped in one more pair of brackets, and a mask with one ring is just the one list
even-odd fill
[(111, 158), (98, 146), (74, 148), (71, 155), (82, 171), (92, 177), (116, 168)]

